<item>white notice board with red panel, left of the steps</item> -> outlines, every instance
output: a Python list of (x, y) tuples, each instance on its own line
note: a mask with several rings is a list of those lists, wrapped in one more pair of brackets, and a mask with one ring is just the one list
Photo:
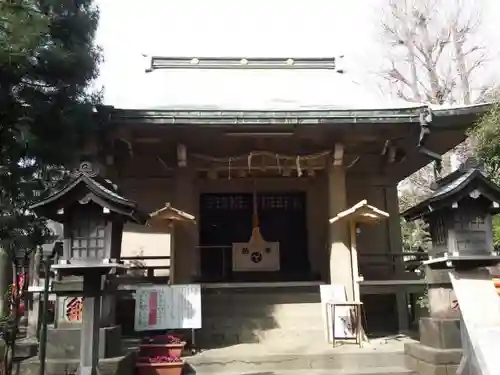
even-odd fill
[(201, 287), (157, 285), (135, 292), (136, 331), (201, 328)]

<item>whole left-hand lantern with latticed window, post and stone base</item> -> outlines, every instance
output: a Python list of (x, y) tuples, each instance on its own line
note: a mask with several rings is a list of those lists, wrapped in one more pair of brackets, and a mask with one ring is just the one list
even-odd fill
[(32, 209), (64, 226), (63, 253), (52, 269), (63, 279), (57, 283), (56, 292), (71, 295), (69, 304), (58, 305), (61, 313), (71, 318), (70, 323), (76, 323), (49, 329), (48, 361), (77, 362), (80, 358), (79, 373), (95, 374), (98, 357), (122, 355), (120, 328), (110, 325), (114, 323), (113, 304), (108, 301), (101, 309), (101, 298), (106, 301), (108, 297), (102, 297), (107, 281), (103, 276), (125, 267), (120, 262), (124, 223), (143, 224), (147, 215), (140, 213), (135, 202), (121, 196), (109, 180), (99, 177), (89, 162), (80, 164), (62, 190)]

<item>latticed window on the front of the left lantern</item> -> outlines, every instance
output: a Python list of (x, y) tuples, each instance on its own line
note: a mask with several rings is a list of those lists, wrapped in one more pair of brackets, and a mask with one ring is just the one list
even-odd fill
[(78, 218), (71, 235), (72, 258), (102, 258), (104, 252), (103, 220)]

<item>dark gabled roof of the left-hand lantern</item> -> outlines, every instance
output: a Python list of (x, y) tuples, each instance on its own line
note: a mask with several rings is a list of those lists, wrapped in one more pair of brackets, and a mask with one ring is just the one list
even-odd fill
[[(81, 187), (84, 187), (87, 192), (80, 190)], [(75, 201), (86, 199), (88, 193), (90, 193), (89, 200), (133, 222), (143, 224), (149, 217), (140, 212), (136, 202), (122, 196), (117, 186), (111, 181), (85, 172), (78, 172), (65, 187), (33, 204), (30, 209), (41, 216), (60, 222), (61, 215), (58, 211)]]

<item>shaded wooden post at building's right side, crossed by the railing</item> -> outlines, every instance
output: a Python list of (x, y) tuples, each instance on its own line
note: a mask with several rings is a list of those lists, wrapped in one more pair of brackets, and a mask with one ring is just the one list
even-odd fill
[[(389, 252), (391, 254), (403, 251), (403, 238), (401, 234), (401, 218), (399, 216), (399, 198), (397, 186), (386, 186), (384, 189), (386, 211), (389, 213), (387, 221), (387, 235), (389, 237)], [(405, 266), (403, 257), (393, 256), (395, 265), (394, 279), (404, 278)], [(398, 327), (400, 332), (407, 332), (410, 329), (408, 315), (408, 295), (404, 286), (400, 286), (396, 293), (396, 303), (398, 309)]]

